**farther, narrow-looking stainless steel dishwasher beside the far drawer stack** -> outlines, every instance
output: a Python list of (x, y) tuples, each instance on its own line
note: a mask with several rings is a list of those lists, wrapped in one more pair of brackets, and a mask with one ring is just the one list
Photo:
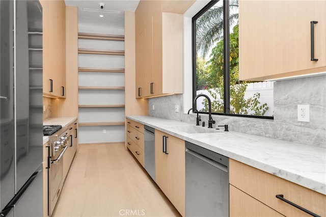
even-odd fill
[(155, 129), (144, 126), (145, 170), (155, 180)]

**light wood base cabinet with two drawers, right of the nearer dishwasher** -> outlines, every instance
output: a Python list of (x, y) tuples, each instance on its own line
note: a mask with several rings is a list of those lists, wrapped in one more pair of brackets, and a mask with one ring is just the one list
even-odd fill
[(325, 195), (231, 158), (229, 168), (230, 217), (308, 216), (276, 195), (283, 195), (286, 200), (319, 216), (326, 216)]

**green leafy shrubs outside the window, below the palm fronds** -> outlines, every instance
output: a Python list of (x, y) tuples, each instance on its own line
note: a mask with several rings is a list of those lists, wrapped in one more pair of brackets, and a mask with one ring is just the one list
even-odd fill
[[(210, 60), (207, 61), (207, 70), (201, 69), (200, 82), (205, 83), (208, 87), (208, 93), (213, 97), (211, 102), (212, 111), (215, 113), (224, 112), (224, 50), (223, 40), (216, 43), (213, 47)], [(263, 116), (267, 110), (267, 103), (260, 104), (260, 93), (255, 93), (254, 96), (245, 99), (248, 82), (239, 81), (239, 26), (236, 24), (233, 28), (233, 33), (230, 34), (230, 113), (256, 116)], [(201, 66), (205, 66), (201, 62)], [(206, 81), (204, 80), (205, 78)], [(197, 85), (198, 87), (201, 87)], [(200, 89), (197, 89), (200, 90)], [(220, 95), (220, 98), (218, 97)], [(204, 109), (208, 111), (208, 102), (203, 102)]]

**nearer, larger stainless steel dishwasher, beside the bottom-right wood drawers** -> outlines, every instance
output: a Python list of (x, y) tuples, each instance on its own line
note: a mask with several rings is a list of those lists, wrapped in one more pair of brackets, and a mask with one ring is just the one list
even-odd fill
[(185, 215), (229, 216), (229, 158), (185, 142)]

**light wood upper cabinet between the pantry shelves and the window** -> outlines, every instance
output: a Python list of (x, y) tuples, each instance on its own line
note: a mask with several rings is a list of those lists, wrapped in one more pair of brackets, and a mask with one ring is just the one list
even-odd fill
[(135, 12), (137, 98), (183, 93), (182, 14), (193, 3), (140, 1)]

